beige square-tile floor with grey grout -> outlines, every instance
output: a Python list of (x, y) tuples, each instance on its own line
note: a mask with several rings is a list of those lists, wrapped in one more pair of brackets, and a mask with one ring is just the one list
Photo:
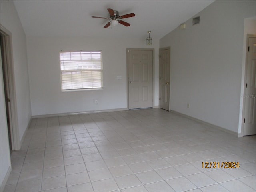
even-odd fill
[(256, 136), (161, 109), (33, 119), (11, 160), (4, 192), (256, 191)]

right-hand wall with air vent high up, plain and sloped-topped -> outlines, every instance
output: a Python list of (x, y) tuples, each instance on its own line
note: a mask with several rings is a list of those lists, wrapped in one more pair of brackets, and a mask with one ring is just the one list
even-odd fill
[(255, 15), (255, 1), (216, 1), (200, 24), (160, 39), (171, 47), (171, 110), (238, 133), (244, 19)]

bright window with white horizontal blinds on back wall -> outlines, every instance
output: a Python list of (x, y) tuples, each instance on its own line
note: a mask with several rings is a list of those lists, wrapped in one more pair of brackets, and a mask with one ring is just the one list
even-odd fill
[(62, 90), (103, 88), (102, 51), (60, 51)]

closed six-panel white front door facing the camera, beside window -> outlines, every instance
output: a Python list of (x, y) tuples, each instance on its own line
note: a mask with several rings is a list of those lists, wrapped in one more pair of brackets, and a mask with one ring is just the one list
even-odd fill
[(128, 50), (129, 109), (153, 107), (153, 51)]

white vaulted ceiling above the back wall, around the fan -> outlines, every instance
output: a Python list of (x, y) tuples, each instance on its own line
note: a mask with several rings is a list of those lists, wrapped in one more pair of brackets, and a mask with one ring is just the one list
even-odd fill
[[(17, 0), (14, 1), (27, 36), (84, 36), (90, 38), (145, 38), (151, 30), (160, 39), (200, 12), (210, 0)], [(135, 13), (123, 19), (129, 27), (103, 28), (109, 21), (91, 16), (109, 17), (107, 8), (119, 15)]]

